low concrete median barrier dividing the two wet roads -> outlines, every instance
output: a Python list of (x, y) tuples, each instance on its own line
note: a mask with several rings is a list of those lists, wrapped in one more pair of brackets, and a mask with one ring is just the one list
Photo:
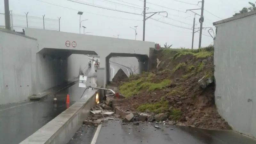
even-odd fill
[(83, 124), (90, 109), (95, 106), (96, 93), (92, 90), (79, 101), (74, 103), (59, 116), (45, 124), (20, 144), (62, 144), (68, 143), (76, 131)]

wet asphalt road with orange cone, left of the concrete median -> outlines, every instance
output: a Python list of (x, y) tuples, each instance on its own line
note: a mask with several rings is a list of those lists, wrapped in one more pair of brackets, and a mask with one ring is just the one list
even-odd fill
[(58, 94), (57, 104), (53, 96), (40, 101), (26, 101), (0, 107), (0, 143), (18, 144), (67, 109), (66, 96), (70, 105), (79, 100), (84, 88), (78, 83)]

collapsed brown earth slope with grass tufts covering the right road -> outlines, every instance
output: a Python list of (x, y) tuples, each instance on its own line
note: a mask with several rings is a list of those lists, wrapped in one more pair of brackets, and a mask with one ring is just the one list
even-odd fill
[(150, 72), (132, 75), (118, 85), (125, 96), (119, 107), (124, 111), (149, 113), (157, 121), (231, 129), (214, 103), (213, 52), (212, 46), (155, 51)]

